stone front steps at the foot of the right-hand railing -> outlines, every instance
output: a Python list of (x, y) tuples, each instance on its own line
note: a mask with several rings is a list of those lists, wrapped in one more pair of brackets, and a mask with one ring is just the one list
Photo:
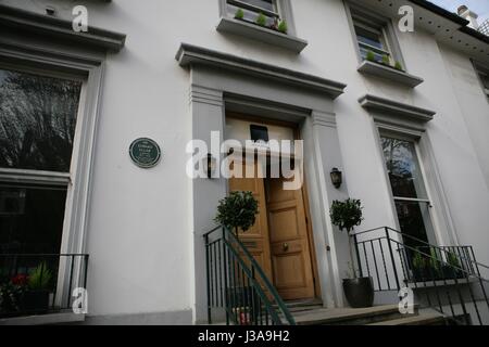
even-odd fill
[(398, 305), (383, 305), (369, 308), (317, 308), (291, 307), (298, 325), (444, 325), (446, 319), (437, 312), (402, 314)]

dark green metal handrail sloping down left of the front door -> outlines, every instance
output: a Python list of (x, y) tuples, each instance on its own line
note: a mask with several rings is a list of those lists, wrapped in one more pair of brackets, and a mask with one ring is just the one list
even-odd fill
[[(217, 231), (222, 230), (222, 234), (217, 236), (217, 240), (210, 241), (210, 236), (213, 233), (216, 233)], [(261, 299), (261, 301), (264, 305), (265, 313), (269, 314), (273, 324), (284, 324), (283, 320), (280, 319), (280, 313), (285, 319), (285, 323), (294, 325), (296, 321), (293, 317), (291, 316), (290, 311), (288, 310), (287, 306), (285, 305), (284, 300), (278, 295), (278, 292), (273, 286), (269, 279), (264, 273), (263, 269), (260, 267), (258, 261), (253, 258), (253, 256), (250, 254), (250, 252), (247, 249), (247, 247), (242, 244), (241, 241), (227, 228), (218, 226), (212, 229), (211, 231), (203, 234), (203, 237), (205, 240), (205, 247), (206, 247), (206, 272), (208, 272), (208, 320), (209, 323), (211, 323), (211, 307), (213, 307), (211, 301), (220, 301), (220, 299), (214, 296), (221, 295), (221, 304), (224, 304), (225, 306), (225, 312), (226, 312), (226, 322), (229, 322), (229, 317), (231, 317), (235, 321), (235, 323), (239, 324), (239, 320), (234, 317), (233, 310), (230, 309), (229, 305), (231, 303), (230, 298), (227, 295), (227, 291), (230, 290), (230, 281), (228, 281), (227, 275), (230, 272), (235, 272), (235, 264), (230, 265), (229, 259), (226, 262), (226, 253), (221, 254), (218, 253), (216, 255), (216, 247), (217, 252), (221, 249), (218, 248), (220, 243), (223, 244), (223, 247), (225, 247), (233, 257), (238, 261), (240, 269), (242, 270), (242, 273), (247, 277), (244, 282), (248, 282), (248, 284), (252, 286), (253, 291), (256, 292), (256, 295)], [(214, 246), (212, 248), (211, 246)], [(214, 249), (214, 250), (213, 250)], [(214, 253), (213, 253), (214, 252)], [(214, 257), (214, 261), (212, 261), (212, 258)], [(222, 278), (221, 269), (217, 271), (216, 267), (216, 258), (217, 261), (224, 262), (225, 269), (224, 269), (224, 279)], [(215, 269), (213, 269), (213, 267)], [(220, 275), (220, 279), (217, 279), (217, 272)], [(229, 278), (230, 280), (230, 278)], [(213, 283), (215, 282), (215, 283)], [(239, 282), (239, 281), (238, 281)], [(216, 287), (218, 286), (218, 287)], [(212, 293), (211, 293), (212, 292)], [(223, 292), (225, 293), (223, 296)], [(217, 294), (216, 294), (217, 293)], [(267, 296), (269, 295), (269, 297)], [(224, 297), (224, 299), (223, 299)], [(224, 300), (224, 303), (222, 303)], [(255, 303), (253, 303), (255, 305)], [(267, 323), (267, 319), (265, 320)], [(254, 321), (254, 323), (259, 323), (258, 321)]]

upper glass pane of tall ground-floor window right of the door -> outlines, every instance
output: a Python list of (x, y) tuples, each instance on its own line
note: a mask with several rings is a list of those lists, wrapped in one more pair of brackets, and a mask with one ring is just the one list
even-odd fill
[(381, 138), (381, 144), (392, 194), (399, 197), (426, 198), (414, 143)]

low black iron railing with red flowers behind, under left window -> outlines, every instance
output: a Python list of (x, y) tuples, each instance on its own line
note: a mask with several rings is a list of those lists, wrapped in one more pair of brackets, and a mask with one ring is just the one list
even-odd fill
[(87, 271), (87, 254), (0, 254), (0, 317), (71, 310)]

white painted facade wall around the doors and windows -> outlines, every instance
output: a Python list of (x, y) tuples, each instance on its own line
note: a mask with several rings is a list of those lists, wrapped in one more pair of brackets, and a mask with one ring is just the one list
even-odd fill
[[(85, 3), (90, 25), (127, 34), (126, 47), (108, 56), (97, 136), (87, 240), (92, 314), (192, 307), (192, 210), (185, 175), (190, 77), (174, 59), (180, 42), (348, 83), (335, 110), (341, 169), (350, 195), (365, 206), (360, 229), (394, 227), (394, 215), (375, 129), (358, 99), (368, 92), (437, 111), (428, 134), (457, 237), (489, 264), (489, 105), (468, 56), (441, 47), (434, 36), (397, 33), (409, 72), (425, 79), (410, 90), (356, 72), (355, 43), (339, 0), (292, 1), (297, 34), (309, 41), (299, 55), (217, 33), (217, 0), (0, 3), (39, 13), (49, 3), (64, 18), (72, 4)], [(130, 162), (127, 150), (138, 137), (160, 143), (158, 167), (143, 170)], [(346, 261), (348, 254), (339, 257)]]

